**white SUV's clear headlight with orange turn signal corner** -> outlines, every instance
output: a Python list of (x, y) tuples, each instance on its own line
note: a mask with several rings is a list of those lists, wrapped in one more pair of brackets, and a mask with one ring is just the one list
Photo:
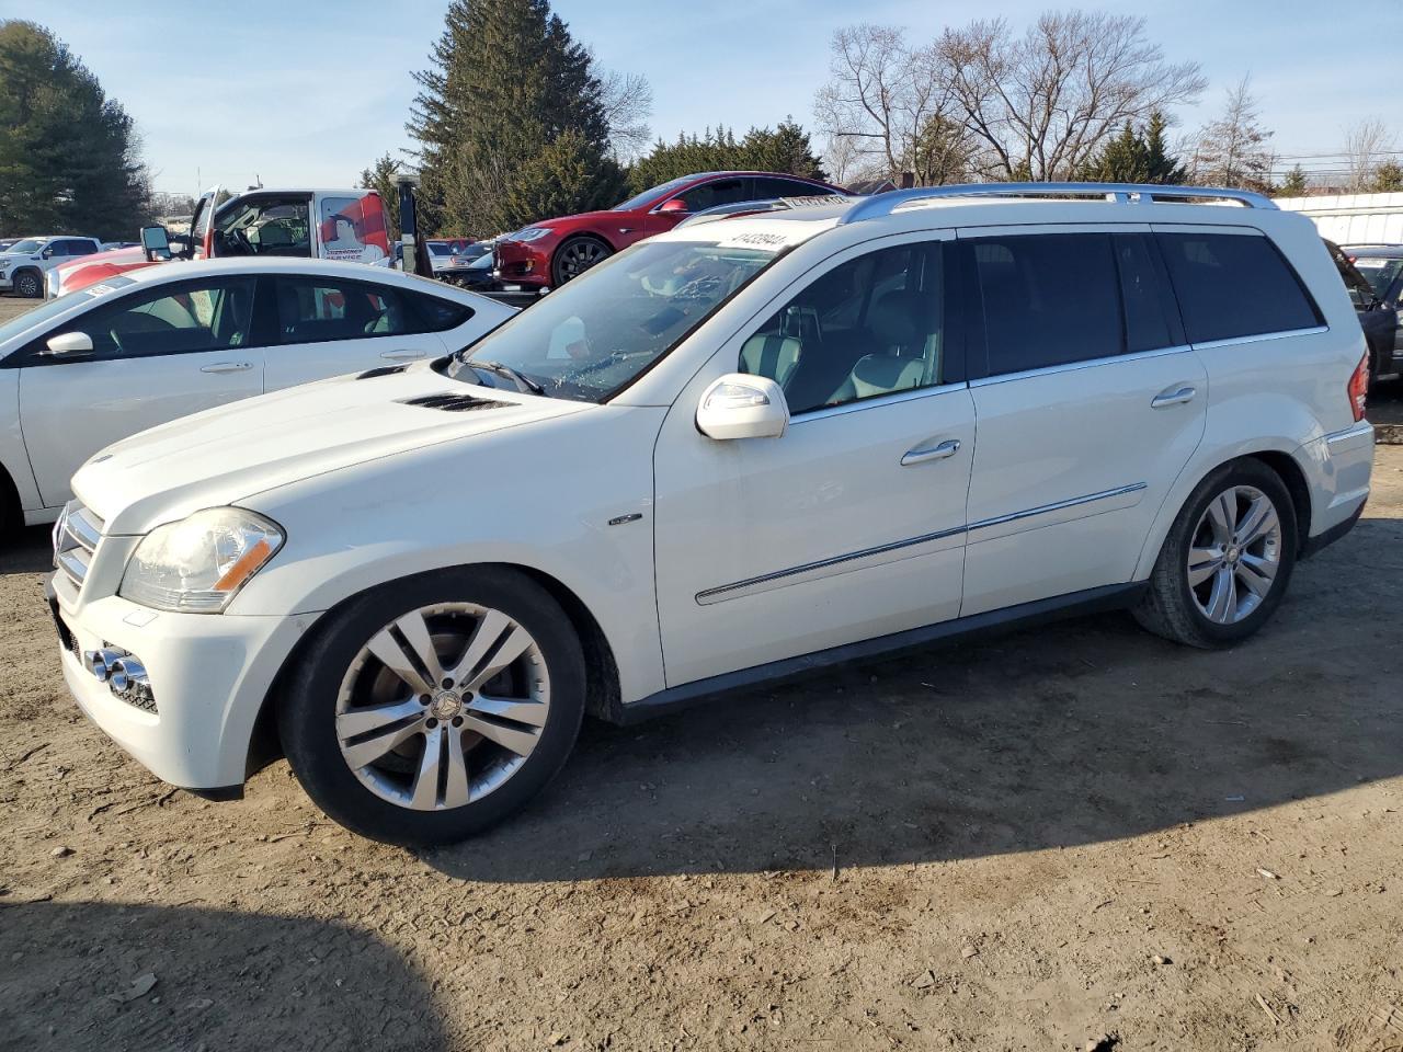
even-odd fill
[(282, 541), (282, 530), (261, 515), (208, 508), (147, 533), (118, 592), (157, 610), (220, 613)]

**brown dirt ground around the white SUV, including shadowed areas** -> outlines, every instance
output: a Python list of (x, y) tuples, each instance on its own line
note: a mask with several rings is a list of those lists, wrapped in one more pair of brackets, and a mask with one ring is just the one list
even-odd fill
[(1403, 1048), (1403, 446), (1233, 651), (1104, 616), (586, 725), (427, 853), (283, 763), (156, 781), (48, 567), (0, 550), (0, 1048)]

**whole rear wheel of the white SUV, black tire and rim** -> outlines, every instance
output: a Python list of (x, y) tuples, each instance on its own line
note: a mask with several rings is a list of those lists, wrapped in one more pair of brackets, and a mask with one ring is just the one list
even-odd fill
[(1285, 595), (1296, 529), (1295, 505), (1275, 471), (1250, 459), (1219, 467), (1170, 526), (1135, 620), (1188, 647), (1247, 638)]

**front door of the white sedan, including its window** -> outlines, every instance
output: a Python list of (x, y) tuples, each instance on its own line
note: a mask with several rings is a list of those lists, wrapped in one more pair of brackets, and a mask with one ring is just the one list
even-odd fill
[[(18, 352), (20, 425), (46, 508), (118, 439), (177, 417), (262, 394), (251, 276), (142, 288), (104, 300)], [(86, 332), (93, 353), (45, 355), (46, 339)]]

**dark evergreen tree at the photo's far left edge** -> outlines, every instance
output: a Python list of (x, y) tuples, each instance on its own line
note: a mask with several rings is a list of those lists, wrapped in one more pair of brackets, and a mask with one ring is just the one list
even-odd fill
[(149, 217), (132, 118), (48, 29), (0, 22), (0, 234), (130, 238)]

